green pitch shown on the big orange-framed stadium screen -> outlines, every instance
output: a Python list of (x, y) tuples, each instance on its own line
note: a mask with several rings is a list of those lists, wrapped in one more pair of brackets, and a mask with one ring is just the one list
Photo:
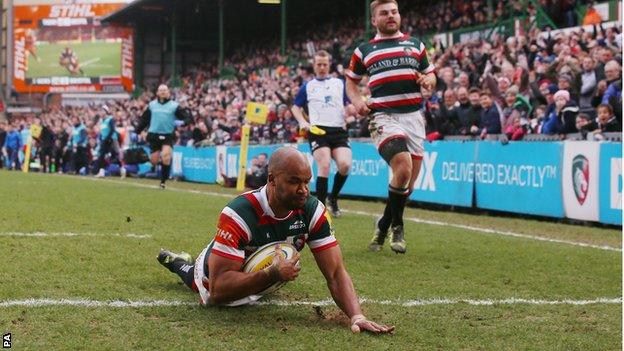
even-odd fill
[[(78, 55), (78, 62), (85, 77), (121, 75), (121, 43), (83, 42), (69, 46)], [(32, 54), (28, 55), (26, 78), (71, 76), (69, 71), (59, 64), (63, 50), (65, 50), (63, 44), (38, 43), (39, 60)]]

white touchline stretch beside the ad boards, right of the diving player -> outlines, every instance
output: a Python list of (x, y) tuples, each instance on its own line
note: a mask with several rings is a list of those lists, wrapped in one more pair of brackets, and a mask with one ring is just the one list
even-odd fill
[[(362, 215), (362, 216), (371, 216), (371, 217), (379, 216), (378, 214), (364, 212), (364, 211), (342, 210), (342, 212), (357, 214), (357, 215)], [(576, 242), (576, 241), (544, 238), (544, 237), (536, 236), (536, 235), (520, 234), (520, 233), (514, 233), (514, 232), (508, 232), (508, 231), (496, 230), (496, 229), (490, 229), (490, 228), (473, 227), (473, 226), (464, 225), (464, 224), (432, 221), (432, 220), (422, 219), (422, 218), (417, 218), (417, 217), (405, 217), (404, 219), (407, 221), (416, 222), (416, 223), (424, 223), (424, 224), (466, 229), (466, 230), (470, 230), (473, 232), (497, 234), (497, 235), (503, 235), (503, 236), (511, 236), (515, 238), (531, 239), (531, 240), (546, 241), (546, 242), (551, 242), (551, 243), (567, 244), (567, 245), (574, 245), (574, 246), (581, 246), (581, 247), (590, 247), (590, 248), (599, 249), (599, 250), (622, 252), (621, 248), (608, 246), (608, 245), (592, 245), (592, 244), (586, 244), (586, 243), (581, 243), (581, 242)]]

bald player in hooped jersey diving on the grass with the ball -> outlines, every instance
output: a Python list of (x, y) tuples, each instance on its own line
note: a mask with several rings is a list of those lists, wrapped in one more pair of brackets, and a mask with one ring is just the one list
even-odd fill
[(311, 178), (304, 154), (287, 146), (278, 149), (269, 160), (267, 184), (230, 201), (219, 215), (216, 236), (195, 263), (187, 253), (167, 250), (160, 251), (158, 261), (198, 292), (202, 305), (240, 305), (258, 300), (258, 292), (295, 280), (299, 274), (298, 253), (291, 259), (276, 255), (269, 267), (242, 272), (243, 263), (257, 248), (287, 242), (301, 251), (307, 243), (336, 305), (351, 319), (351, 330), (392, 333), (394, 327), (362, 315), (331, 217), (323, 203), (310, 196)]

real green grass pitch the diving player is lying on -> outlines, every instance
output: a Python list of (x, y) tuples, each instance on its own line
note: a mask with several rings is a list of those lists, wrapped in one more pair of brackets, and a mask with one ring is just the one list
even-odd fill
[[(161, 247), (199, 253), (228, 202), (207, 193), (234, 192), (174, 182), (166, 191), (149, 188), (154, 185), (0, 171), (0, 333), (12, 333), (14, 349), (622, 349), (621, 251), (408, 221), (408, 253), (386, 247), (375, 254), (366, 249), (373, 217), (353, 213), (334, 221), (347, 269), (360, 297), (371, 301), (363, 304), (365, 314), (396, 325), (395, 335), (353, 335), (335, 306), (312, 306), (330, 296), (307, 249), (299, 278), (268, 299), (285, 304), (195, 306), (197, 296), (156, 254)], [(383, 207), (341, 205), (370, 213)], [(621, 249), (615, 229), (412, 208), (406, 216)], [(90, 235), (24, 236), (36, 232)], [(11, 305), (30, 298), (184, 305)], [(496, 303), (510, 298), (539, 301)], [(611, 302), (570, 304), (599, 298)], [(410, 301), (432, 304), (402, 305)]]

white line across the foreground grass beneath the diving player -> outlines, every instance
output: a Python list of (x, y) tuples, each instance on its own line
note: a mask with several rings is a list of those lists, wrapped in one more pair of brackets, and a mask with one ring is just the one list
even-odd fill
[[(596, 299), (586, 300), (543, 300), (543, 299), (524, 299), (524, 298), (508, 298), (508, 299), (452, 299), (452, 298), (432, 298), (417, 300), (376, 300), (369, 298), (361, 298), (360, 303), (369, 305), (384, 305), (398, 307), (421, 307), (432, 305), (470, 305), (470, 306), (504, 306), (504, 305), (568, 305), (568, 306), (585, 306), (585, 305), (621, 305), (621, 297), (599, 297)], [(333, 300), (319, 301), (286, 301), (286, 300), (267, 300), (253, 303), (259, 306), (335, 306)], [(188, 302), (178, 300), (91, 300), (91, 299), (24, 299), (24, 300), (0, 300), (0, 308), (8, 307), (43, 307), (43, 306), (74, 306), (74, 307), (112, 307), (112, 308), (142, 308), (142, 307), (177, 307), (177, 306), (199, 306), (199, 302)]]

